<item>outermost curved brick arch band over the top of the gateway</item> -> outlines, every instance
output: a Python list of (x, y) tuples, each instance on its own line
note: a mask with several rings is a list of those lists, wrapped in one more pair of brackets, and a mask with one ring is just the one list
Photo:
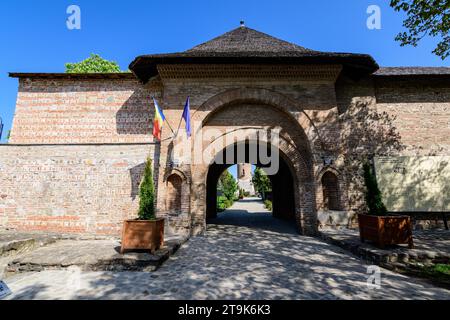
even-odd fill
[[(193, 122), (201, 122), (202, 125), (197, 128), (197, 130), (200, 130), (217, 110), (230, 104), (246, 102), (269, 105), (283, 111), (289, 118), (299, 124), (308, 140), (311, 142), (315, 140), (323, 141), (319, 130), (315, 127), (314, 122), (303, 110), (303, 107), (298, 101), (269, 89), (246, 87), (230, 89), (219, 93), (200, 105), (193, 112), (192, 120)], [(293, 115), (294, 112), (297, 117)]]

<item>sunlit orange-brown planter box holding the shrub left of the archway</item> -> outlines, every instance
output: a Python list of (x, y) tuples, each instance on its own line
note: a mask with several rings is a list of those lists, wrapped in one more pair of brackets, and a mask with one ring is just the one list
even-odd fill
[(125, 250), (150, 250), (153, 253), (163, 244), (164, 219), (124, 221), (120, 253)]

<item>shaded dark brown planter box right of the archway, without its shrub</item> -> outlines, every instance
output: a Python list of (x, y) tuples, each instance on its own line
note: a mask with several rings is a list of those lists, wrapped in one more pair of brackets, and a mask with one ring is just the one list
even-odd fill
[(358, 214), (361, 242), (376, 243), (380, 248), (393, 244), (408, 244), (414, 248), (412, 225), (409, 216), (371, 216)]

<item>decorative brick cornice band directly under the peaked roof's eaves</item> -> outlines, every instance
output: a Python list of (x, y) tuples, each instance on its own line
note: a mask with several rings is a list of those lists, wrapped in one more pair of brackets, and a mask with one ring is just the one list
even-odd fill
[(248, 64), (159, 64), (158, 72), (167, 79), (295, 79), (335, 81), (341, 65), (248, 65)]

